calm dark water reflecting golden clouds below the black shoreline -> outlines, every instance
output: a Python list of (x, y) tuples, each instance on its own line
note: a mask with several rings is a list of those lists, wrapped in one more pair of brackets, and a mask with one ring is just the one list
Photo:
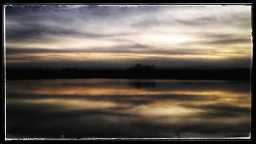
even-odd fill
[(7, 82), (7, 133), (37, 138), (248, 136), (250, 108), (249, 82)]

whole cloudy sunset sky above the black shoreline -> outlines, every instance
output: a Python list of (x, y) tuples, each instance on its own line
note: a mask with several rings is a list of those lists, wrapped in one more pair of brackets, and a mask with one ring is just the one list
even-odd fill
[(251, 66), (251, 6), (7, 5), (6, 66)]

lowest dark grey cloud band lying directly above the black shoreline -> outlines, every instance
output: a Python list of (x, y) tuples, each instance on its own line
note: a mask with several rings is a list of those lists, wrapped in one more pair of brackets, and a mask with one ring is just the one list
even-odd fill
[[(112, 67), (113, 65), (117, 67), (131, 67), (135, 65), (136, 63), (141, 64), (149, 64), (149, 65), (155, 65), (157, 67), (161, 66), (180, 66), (180, 67), (186, 67), (186, 66), (205, 66), (205, 65), (214, 65), (214, 66), (222, 66), (222, 67), (244, 67), (244, 68), (250, 68), (250, 59), (227, 59), (227, 60), (202, 60), (202, 59), (181, 59), (181, 58), (140, 58), (140, 59), (119, 59), (116, 60), (108, 60), (108, 61), (102, 61), (102, 60), (69, 60), (65, 57), (61, 57), (59, 55), (51, 55), (49, 58), (54, 58), (54, 60), (50, 60), (47, 58), (37, 57), (37, 56), (12, 56), (8, 57), (7, 61), (9, 63), (7, 64), (7, 67), (19, 67), (19, 66), (25, 66), (25, 67), (58, 67), (58, 68), (64, 68), (64, 67), (88, 67), (88, 66), (99, 66), (99, 67)], [(24, 63), (23, 61), (26, 61)], [(22, 65), (21, 65), (22, 63)]]

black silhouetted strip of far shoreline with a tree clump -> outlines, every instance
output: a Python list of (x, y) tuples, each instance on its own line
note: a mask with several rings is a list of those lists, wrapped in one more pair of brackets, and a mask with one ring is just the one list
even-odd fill
[(136, 64), (126, 70), (78, 70), (76, 68), (6, 69), (7, 80), (19, 79), (180, 79), (249, 81), (250, 68), (233, 69), (157, 69), (154, 65)]

